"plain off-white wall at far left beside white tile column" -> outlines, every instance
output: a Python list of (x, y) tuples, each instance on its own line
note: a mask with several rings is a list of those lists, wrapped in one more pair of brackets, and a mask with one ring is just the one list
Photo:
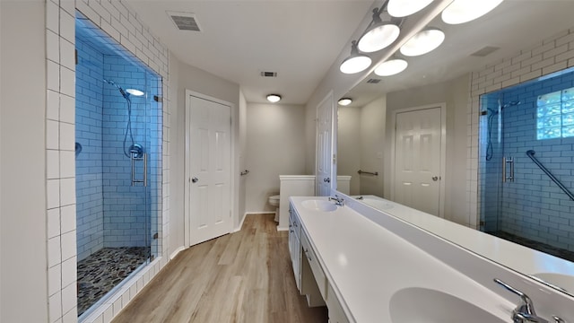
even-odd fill
[(45, 5), (0, 1), (1, 322), (48, 321)]

